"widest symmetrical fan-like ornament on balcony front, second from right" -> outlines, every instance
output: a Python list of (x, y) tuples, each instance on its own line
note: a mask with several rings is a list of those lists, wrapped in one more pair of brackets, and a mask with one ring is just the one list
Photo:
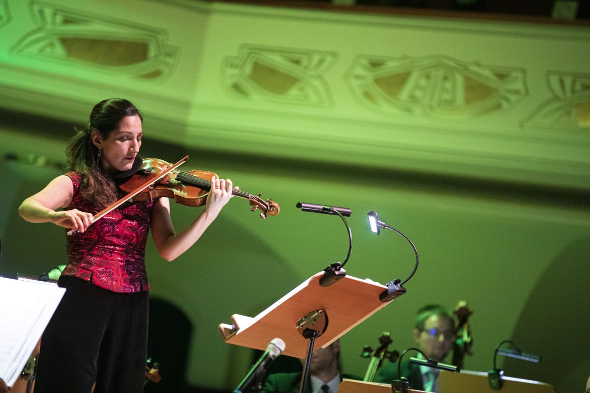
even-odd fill
[(451, 121), (507, 110), (527, 95), (525, 70), (447, 56), (359, 55), (346, 80), (366, 107)]

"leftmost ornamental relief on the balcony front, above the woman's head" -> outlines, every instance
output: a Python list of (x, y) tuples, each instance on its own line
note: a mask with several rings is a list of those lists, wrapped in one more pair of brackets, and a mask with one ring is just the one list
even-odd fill
[(178, 62), (163, 29), (40, 1), (30, 12), (37, 28), (24, 32), (14, 55), (140, 80), (165, 77)]

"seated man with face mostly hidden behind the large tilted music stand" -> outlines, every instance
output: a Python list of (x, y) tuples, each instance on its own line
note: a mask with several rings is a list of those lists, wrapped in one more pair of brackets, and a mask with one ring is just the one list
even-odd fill
[[(313, 352), (305, 393), (337, 393), (342, 378), (359, 379), (340, 374), (340, 341)], [(301, 359), (304, 364), (305, 359)], [(268, 375), (263, 391), (266, 393), (298, 393), (301, 372), (278, 372)]]

